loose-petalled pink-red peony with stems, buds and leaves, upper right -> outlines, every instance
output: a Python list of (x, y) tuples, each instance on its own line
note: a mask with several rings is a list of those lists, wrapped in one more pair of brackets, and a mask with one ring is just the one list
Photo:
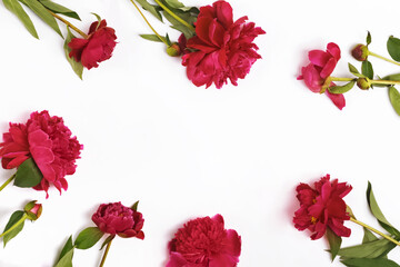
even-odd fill
[[(298, 80), (304, 80), (306, 86), (312, 91), (318, 93), (326, 93), (332, 102), (341, 110), (346, 106), (343, 93), (350, 91), (354, 85), (361, 90), (368, 90), (374, 87), (388, 88), (389, 99), (394, 111), (400, 116), (400, 93), (394, 88), (396, 85), (400, 85), (400, 75), (377, 76), (372, 68), (372, 63), (369, 61), (369, 57), (377, 57), (388, 62), (400, 66), (400, 39), (389, 37), (387, 47), (388, 52), (392, 59), (384, 58), (369, 50), (371, 43), (371, 34), (368, 32), (367, 44), (357, 44), (352, 51), (352, 57), (362, 61), (361, 72), (351, 63), (349, 63), (349, 71), (353, 76), (347, 77), (332, 77), (337, 63), (340, 59), (340, 48), (338, 44), (330, 42), (327, 46), (327, 51), (311, 50), (309, 52), (310, 63), (301, 69), (301, 76)], [(346, 82), (338, 86), (334, 81)]]

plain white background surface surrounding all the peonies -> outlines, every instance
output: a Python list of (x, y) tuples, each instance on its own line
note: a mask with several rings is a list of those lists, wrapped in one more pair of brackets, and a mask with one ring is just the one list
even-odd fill
[[(349, 77), (347, 63), (359, 62), (350, 49), (364, 42), (387, 56), (390, 34), (400, 37), (399, 7), (391, 1), (323, 2), (230, 1), (234, 19), (248, 16), (266, 36), (256, 39), (262, 60), (238, 87), (194, 87), (180, 59), (161, 43), (141, 39), (149, 29), (128, 0), (59, 0), (78, 11), (88, 30), (96, 12), (118, 36), (113, 57), (81, 81), (64, 59), (62, 39), (31, 16), (40, 40), (0, 4), (0, 130), (24, 122), (30, 112), (48, 109), (84, 145), (69, 189), (59, 196), (9, 186), (0, 192), (0, 227), (32, 199), (43, 202), (42, 217), (0, 249), (1, 267), (50, 267), (67, 238), (93, 226), (91, 215), (102, 202), (140, 200), (146, 239), (117, 238), (106, 266), (161, 267), (167, 244), (184, 221), (221, 214), (226, 227), (242, 237), (239, 266), (341, 266), (330, 264), (327, 241), (311, 241), (294, 229), (296, 186), (331, 174), (353, 190), (344, 198), (356, 216), (377, 226), (367, 209), (370, 180), (389, 221), (398, 212), (400, 118), (384, 88), (346, 95), (340, 111), (326, 96), (296, 80), (307, 51), (337, 42), (342, 49), (333, 75)], [(202, 6), (212, 1), (186, 1)], [(148, 14), (148, 13), (147, 13)], [(150, 14), (153, 26), (178, 34)], [(62, 31), (66, 32), (64, 27)], [(376, 72), (400, 67), (372, 59)], [(2, 170), (1, 181), (13, 174)], [(353, 230), (344, 245), (361, 240)], [(74, 266), (98, 266), (100, 244), (77, 250)], [(390, 255), (396, 258), (397, 253)], [(398, 255), (397, 255), (398, 256)]]

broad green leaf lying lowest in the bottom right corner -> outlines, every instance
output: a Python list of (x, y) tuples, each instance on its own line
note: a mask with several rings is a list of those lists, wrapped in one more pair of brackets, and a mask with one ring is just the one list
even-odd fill
[(357, 246), (344, 247), (338, 251), (342, 258), (378, 258), (387, 255), (396, 244), (387, 239), (378, 239)]

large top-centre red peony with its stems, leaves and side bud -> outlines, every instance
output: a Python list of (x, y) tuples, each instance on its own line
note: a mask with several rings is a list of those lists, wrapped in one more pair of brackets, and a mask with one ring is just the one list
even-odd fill
[[(179, 1), (174, 1), (173, 6), (159, 0), (156, 2), (160, 10), (168, 13), (166, 19), (182, 34), (178, 43), (172, 43), (168, 34), (161, 37), (149, 24), (154, 34), (142, 37), (164, 42), (170, 56), (183, 55), (182, 65), (194, 86), (208, 88), (213, 83), (220, 89), (228, 80), (237, 86), (238, 79), (244, 79), (252, 65), (261, 58), (253, 40), (266, 32), (253, 22), (247, 22), (246, 16), (233, 21), (232, 7), (228, 2), (220, 0), (200, 9), (184, 7)], [(161, 18), (159, 12), (153, 14)]]

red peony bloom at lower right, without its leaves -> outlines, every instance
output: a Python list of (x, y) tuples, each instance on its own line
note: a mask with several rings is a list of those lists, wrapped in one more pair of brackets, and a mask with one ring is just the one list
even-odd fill
[(338, 182), (338, 179), (330, 181), (329, 175), (314, 182), (314, 188), (300, 184), (296, 189), (300, 208), (293, 217), (294, 227), (299, 230), (309, 229), (313, 240), (321, 238), (327, 227), (338, 236), (349, 237), (351, 230), (343, 226), (344, 220), (350, 219), (343, 197), (351, 189), (351, 186)]

